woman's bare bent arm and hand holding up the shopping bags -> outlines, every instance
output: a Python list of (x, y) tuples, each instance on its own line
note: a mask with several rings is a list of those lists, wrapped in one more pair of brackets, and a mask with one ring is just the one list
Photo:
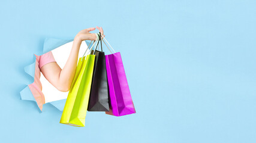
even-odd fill
[[(103, 35), (102, 27), (97, 26), (97, 29), (99, 29)], [(59, 91), (66, 92), (70, 90), (71, 83), (76, 73), (77, 59), (82, 41), (95, 41), (97, 39), (94, 33), (89, 33), (93, 30), (95, 30), (95, 28), (84, 29), (77, 33), (74, 38), (70, 56), (68, 57), (67, 63), (63, 69), (61, 69), (56, 62), (48, 63), (41, 67), (41, 72), (44, 77), (46, 77), (46, 79)]]

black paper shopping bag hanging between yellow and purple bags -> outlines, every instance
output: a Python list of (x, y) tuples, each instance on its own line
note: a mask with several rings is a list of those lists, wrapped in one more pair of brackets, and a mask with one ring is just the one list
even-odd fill
[(88, 111), (109, 111), (109, 89), (107, 85), (106, 58), (102, 49), (102, 43), (101, 51), (96, 49), (97, 48), (95, 48), (94, 51), (94, 74), (92, 76)]

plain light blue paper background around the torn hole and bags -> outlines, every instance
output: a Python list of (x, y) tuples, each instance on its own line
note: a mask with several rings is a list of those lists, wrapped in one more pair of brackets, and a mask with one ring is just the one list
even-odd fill
[[(1, 142), (256, 142), (256, 1), (1, 1)], [(19, 92), (44, 38), (103, 26), (137, 113), (59, 124)]]

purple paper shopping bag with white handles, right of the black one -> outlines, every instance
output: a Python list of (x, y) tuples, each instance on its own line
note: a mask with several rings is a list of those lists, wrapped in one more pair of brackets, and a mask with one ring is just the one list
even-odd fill
[[(106, 38), (104, 39), (106, 40)], [(109, 44), (109, 42), (107, 43)], [(112, 48), (112, 46), (110, 47)], [(114, 49), (113, 51), (115, 52)], [(131, 98), (131, 93), (129, 91), (127, 77), (125, 75), (125, 69), (120, 52), (106, 55), (106, 69), (110, 95), (110, 111), (106, 111), (106, 114), (113, 116), (124, 116), (135, 113), (135, 108)]]

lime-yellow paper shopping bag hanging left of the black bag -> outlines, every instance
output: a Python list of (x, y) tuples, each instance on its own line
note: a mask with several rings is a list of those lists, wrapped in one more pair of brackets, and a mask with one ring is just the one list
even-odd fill
[[(94, 45), (92, 45), (92, 48), (93, 46)], [(95, 55), (91, 54), (79, 58), (79, 63), (77, 64), (76, 73), (68, 93), (60, 123), (71, 126), (85, 126), (94, 61)]]

